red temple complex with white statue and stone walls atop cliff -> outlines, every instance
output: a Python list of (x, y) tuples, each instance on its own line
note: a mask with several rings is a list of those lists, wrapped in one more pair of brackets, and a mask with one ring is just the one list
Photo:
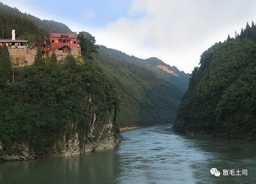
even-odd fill
[(50, 57), (55, 53), (57, 60), (62, 61), (67, 55), (81, 56), (81, 47), (77, 42), (77, 33), (52, 33), (49, 34), (50, 45), (44, 43), (33, 43), (28, 47), (28, 40), (16, 40), (15, 30), (12, 30), (12, 39), (0, 40), (0, 46), (6, 45), (10, 59), (14, 66), (31, 65), (36, 56), (36, 48), (40, 47), (43, 57)]

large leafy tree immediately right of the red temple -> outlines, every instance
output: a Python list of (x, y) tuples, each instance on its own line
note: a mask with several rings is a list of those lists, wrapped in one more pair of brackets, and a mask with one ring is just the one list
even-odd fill
[(91, 53), (98, 53), (98, 45), (95, 45), (95, 37), (88, 32), (80, 32), (77, 39), (81, 46), (81, 54), (85, 59), (93, 60)]

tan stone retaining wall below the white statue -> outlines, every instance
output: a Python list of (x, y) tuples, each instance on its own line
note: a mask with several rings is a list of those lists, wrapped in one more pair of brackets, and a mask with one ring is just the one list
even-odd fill
[(10, 59), (15, 67), (32, 65), (36, 56), (36, 49), (8, 48)]

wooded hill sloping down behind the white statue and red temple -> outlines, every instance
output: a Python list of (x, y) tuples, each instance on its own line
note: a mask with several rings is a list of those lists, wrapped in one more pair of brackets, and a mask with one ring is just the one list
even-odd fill
[(0, 38), (11, 39), (12, 29), (15, 29), (17, 39), (27, 39), (32, 42), (49, 41), (49, 31), (57, 33), (72, 33), (63, 23), (54, 20), (41, 20), (30, 14), (22, 13), (0, 3)]

